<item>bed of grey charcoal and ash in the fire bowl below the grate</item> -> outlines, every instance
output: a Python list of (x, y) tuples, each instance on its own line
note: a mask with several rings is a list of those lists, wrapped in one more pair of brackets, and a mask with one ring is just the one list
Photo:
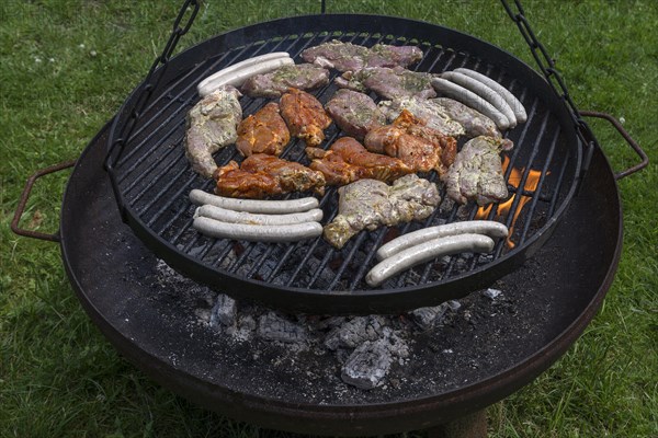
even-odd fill
[[(423, 332), (440, 331), (455, 318), (470, 320), (462, 304), (447, 301), (435, 307), (420, 308), (401, 315), (308, 315), (284, 314), (260, 304), (237, 301), (231, 297), (201, 286), (178, 274), (164, 262), (157, 264), (157, 284), (172, 297), (183, 297), (194, 308), (195, 322), (213, 327), (215, 333), (235, 343), (254, 344), (254, 358), (263, 348), (281, 351), (295, 361), (300, 354), (333, 355), (340, 369), (336, 376), (337, 388), (341, 381), (363, 390), (386, 388), (399, 383), (396, 373), (387, 381), (394, 367), (409, 360), (410, 346)], [(492, 292), (497, 290), (497, 292)], [(481, 292), (494, 301), (501, 296), (498, 289)], [(211, 341), (208, 341), (211, 342)], [(264, 343), (264, 344), (262, 344)], [(446, 346), (436, 346), (452, 353)], [(259, 353), (261, 351), (261, 353)], [(292, 355), (292, 356), (291, 356)]]

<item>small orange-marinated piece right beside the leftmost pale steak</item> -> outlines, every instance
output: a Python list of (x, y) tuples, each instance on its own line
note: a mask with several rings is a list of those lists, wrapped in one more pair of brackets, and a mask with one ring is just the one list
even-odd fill
[(270, 102), (238, 125), (236, 148), (243, 157), (253, 153), (279, 157), (288, 141), (291, 132), (275, 102)]

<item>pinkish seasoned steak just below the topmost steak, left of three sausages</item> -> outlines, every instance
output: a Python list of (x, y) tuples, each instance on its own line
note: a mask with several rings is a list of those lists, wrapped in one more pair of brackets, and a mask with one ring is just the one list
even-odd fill
[(334, 83), (343, 89), (354, 91), (371, 90), (383, 99), (400, 99), (418, 96), (430, 99), (436, 96), (432, 87), (431, 73), (407, 70), (402, 67), (372, 67), (354, 72), (343, 73)]

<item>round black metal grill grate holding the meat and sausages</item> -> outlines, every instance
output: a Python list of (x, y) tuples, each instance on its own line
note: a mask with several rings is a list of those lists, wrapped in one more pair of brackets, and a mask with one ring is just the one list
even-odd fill
[[(512, 168), (523, 169), (519, 187), (508, 184), (510, 194), (527, 196), (531, 200), (524, 206), (514, 227), (512, 240), (517, 249), (536, 238), (561, 206), (566, 192), (570, 189), (569, 177), (578, 157), (565, 139), (564, 122), (560, 122), (552, 108), (527, 84), (521, 83), (514, 72), (506, 71), (494, 64), (466, 50), (444, 47), (423, 37), (409, 35), (395, 36), (377, 32), (300, 32), (269, 38), (242, 41), (234, 48), (219, 50), (216, 55), (196, 59), (162, 92), (155, 96), (140, 115), (138, 126), (126, 141), (125, 152), (115, 165), (116, 181), (127, 210), (135, 215), (144, 227), (160, 239), (164, 245), (186, 258), (192, 258), (209, 267), (219, 276), (264, 281), (272, 287), (300, 288), (305, 290), (354, 292), (372, 290), (365, 285), (364, 276), (375, 263), (374, 253), (381, 244), (396, 233), (407, 233), (423, 227), (444, 222), (473, 219), (477, 212), (475, 204), (454, 205), (441, 188), (443, 201), (432, 216), (422, 223), (411, 222), (397, 229), (381, 228), (373, 232), (361, 232), (337, 251), (322, 238), (297, 243), (257, 243), (216, 240), (198, 234), (192, 227), (194, 206), (188, 200), (193, 188), (212, 192), (214, 182), (196, 175), (188, 165), (184, 157), (184, 124), (188, 111), (198, 101), (196, 84), (205, 77), (229, 65), (253, 56), (271, 51), (288, 51), (300, 62), (299, 54), (330, 39), (341, 39), (353, 44), (372, 46), (376, 43), (392, 45), (417, 45), (424, 56), (415, 69), (439, 73), (458, 67), (478, 70), (507, 87), (525, 105), (527, 122), (509, 132), (514, 149), (508, 152), (509, 166), (506, 178)], [(337, 73), (332, 72), (332, 79)], [(332, 82), (314, 92), (326, 103), (337, 88)], [(373, 95), (375, 97), (375, 95)], [(254, 113), (269, 100), (242, 96), (245, 116)], [(341, 132), (332, 125), (327, 131), (325, 147), (338, 138)], [(282, 158), (308, 164), (304, 145), (293, 140)], [(219, 151), (215, 159), (218, 165), (230, 160), (240, 161), (232, 147)], [(541, 171), (536, 189), (523, 189), (531, 170)], [(424, 175), (436, 181), (435, 174)], [(509, 181), (509, 180), (508, 180)], [(298, 194), (288, 197), (303, 196)], [(519, 209), (521, 196), (515, 196), (510, 210), (497, 217), (497, 206), (489, 212), (489, 219), (500, 220), (508, 227)], [(320, 200), (325, 212), (322, 223), (328, 223), (336, 215), (338, 195), (334, 188), (328, 188)], [(487, 265), (504, 257), (510, 251), (504, 242), (498, 242), (492, 255), (451, 256), (417, 266), (383, 284), (379, 289), (405, 288), (446, 281), (481, 270)]]

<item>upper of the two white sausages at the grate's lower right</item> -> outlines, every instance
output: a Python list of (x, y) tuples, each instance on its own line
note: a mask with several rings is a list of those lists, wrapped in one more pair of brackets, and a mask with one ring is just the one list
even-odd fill
[(423, 228), (399, 238), (393, 239), (377, 250), (377, 260), (390, 257), (402, 250), (427, 242), (430, 239), (439, 239), (447, 235), (465, 233), (485, 234), (490, 238), (507, 238), (508, 228), (494, 220), (468, 220), (464, 222), (446, 223), (443, 226)]

